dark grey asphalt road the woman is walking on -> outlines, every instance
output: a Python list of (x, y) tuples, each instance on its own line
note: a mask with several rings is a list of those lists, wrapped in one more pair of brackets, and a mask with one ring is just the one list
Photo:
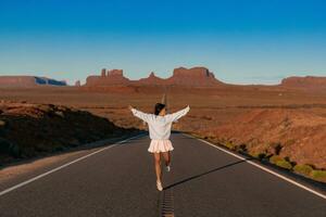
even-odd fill
[(175, 150), (163, 192), (155, 187), (146, 135), (0, 195), (0, 216), (326, 216), (318, 195), (183, 133), (171, 140)]

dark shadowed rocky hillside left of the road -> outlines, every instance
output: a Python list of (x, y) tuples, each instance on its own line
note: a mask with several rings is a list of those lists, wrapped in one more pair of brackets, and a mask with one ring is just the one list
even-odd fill
[(0, 164), (136, 131), (66, 106), (2, 101)]

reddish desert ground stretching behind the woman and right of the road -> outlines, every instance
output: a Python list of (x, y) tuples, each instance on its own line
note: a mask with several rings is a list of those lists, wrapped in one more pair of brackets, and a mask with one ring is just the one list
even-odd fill
[(174, 129), (326, 181), (325, 89), (231, 85), (2, 88), (0, 99), (67, 106), (108, 118), (120, 128), (146, 130), (127, 106), (152, 113), (164, 93), (168, 113), (190, 105)]

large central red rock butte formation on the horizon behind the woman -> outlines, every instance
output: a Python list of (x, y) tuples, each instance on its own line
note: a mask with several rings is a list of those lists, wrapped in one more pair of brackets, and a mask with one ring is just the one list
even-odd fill
[(124, 77), (122, 69), (106, 71), (103, 68), (101, 75), (92, 75), (86, 79), (86, 86), (89, 87), (114, 85), (215, 86), (223, 85), (223, 82), (217, 80), (214, 74), (205, 67), (175, 68), (168, 78), (160, 78), (152, 72), (149, 77), (139, 80)]

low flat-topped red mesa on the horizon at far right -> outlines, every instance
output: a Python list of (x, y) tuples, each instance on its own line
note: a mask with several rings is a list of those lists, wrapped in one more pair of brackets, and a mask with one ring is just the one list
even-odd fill
[(281, 80), (281, 86), (289, 88), (325, 88), (326, 77), (288, 77)]

